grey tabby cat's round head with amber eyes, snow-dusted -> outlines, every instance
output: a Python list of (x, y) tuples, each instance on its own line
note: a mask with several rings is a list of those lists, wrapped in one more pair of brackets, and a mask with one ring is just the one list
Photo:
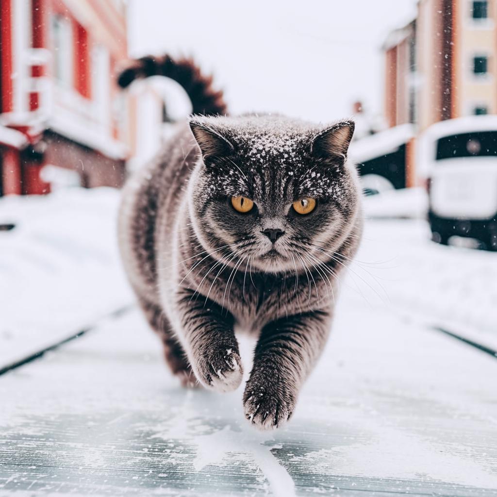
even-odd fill
[(353, 229), (359, 191), (346, 156), (354, 123), (280, 116), (192, 118), (201, 158), (189, 184), (196, 235), (216, 259), (287, 272), (331, 257)]

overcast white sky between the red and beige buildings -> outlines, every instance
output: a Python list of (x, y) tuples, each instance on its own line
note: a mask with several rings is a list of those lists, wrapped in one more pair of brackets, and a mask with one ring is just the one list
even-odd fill
[(380, 112), (386, 34), (415, 0), (129, 0), (129, 51), (192, 55), (214, 73), (230, 112), (314, 121)]

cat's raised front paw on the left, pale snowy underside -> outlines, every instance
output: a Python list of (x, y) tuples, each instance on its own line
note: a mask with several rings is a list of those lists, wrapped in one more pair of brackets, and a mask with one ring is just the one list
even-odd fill
[(212, 351), (197, 362), (197, 376), (205, 387), (218, 392), (231, 392), (242, 383), (240, 355), (233, 349)]

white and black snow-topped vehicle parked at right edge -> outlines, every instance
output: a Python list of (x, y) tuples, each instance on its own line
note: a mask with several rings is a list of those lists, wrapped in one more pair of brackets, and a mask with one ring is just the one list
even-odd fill
[(421, 136), (417, 168), (426, 177), (432, 239), (469, 237), (497, 250), (497, 116), (442, 121)]

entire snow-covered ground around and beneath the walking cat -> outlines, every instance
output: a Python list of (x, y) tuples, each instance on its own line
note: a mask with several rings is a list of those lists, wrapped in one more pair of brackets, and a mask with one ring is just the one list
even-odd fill
[[(132, 302), (118, 200), (0, 199), (0, 367)], [(240, 391), (179, 388), (133, 310), (0, 377), (0, 496), (497, 496), (496, 360), (425, 326), (497, 344), (497, 254), (384, 200), (285, 429), (254, 433)]]

